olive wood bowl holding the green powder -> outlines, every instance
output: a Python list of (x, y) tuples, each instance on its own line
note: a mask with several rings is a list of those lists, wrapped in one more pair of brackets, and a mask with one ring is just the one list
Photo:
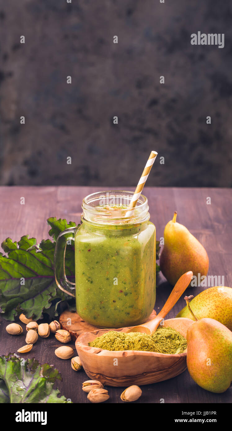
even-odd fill
[[(191, 319), (179, 317), (165, 320), (163, 326), (176, 329), (186, 338), (192, 323)], [(127, 329), (115, 331), (125, 332)], [(91, 380), (99, 380), (109, 386), (150, 384), (176, 377), (187, 368), (187, 349), (180, 354), (166, 355), (138, 350), (110, 351), (88, 346), (88, 343), (107, 331), (97, 329), (85, 332), (75, 342), (83, 368)]]

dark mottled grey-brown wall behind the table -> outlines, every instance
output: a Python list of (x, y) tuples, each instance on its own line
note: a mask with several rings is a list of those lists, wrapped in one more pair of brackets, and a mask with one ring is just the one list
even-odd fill
[(231, 102), (232, 2), (0, 0), (0, 184), (230, 187)]

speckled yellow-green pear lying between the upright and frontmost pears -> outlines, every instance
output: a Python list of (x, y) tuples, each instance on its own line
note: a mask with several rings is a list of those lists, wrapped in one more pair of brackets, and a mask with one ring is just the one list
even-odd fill
[[(232, 331), (232, 288), (215, 286), (203, 290), (191, 300), (191, 310), (198, 319), (209, 317), (215, 319)], [(193, 319), (188, 306), (184, 307), (176, 317)]]

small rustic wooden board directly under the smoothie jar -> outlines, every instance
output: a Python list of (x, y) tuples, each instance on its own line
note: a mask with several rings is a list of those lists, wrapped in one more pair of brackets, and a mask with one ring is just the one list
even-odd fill
[[(155, 316), (156, 311), (153, 310), (153, 312), (147, 319), (147, 322), (149, 322), (149, 320), (151, 319), (154, 319)], [(59, 321), (62, 329), (69, 331), (72, 341), (75, 341), (79, 337), (79, 335), (83, 334), (84, 332), (95, 331), (95, 329), (99, 329), (97, 326), (85, 322), (85, 320), (83, 320), (76, 312), (73, 311), (65, 310), (60, 315)]]

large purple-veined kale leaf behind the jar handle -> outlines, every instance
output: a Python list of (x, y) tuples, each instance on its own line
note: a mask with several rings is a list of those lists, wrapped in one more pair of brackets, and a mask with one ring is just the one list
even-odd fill
[[(42, 313), (53, 319), (63, 301), (66, 306), (73, 302), (73, 298), (56, 285), (53, 259), (55, 240), (64, 229), (75, 226), (75, 222), (50, 217), (47, 223), (53, 241), (42, 240), (37, 245), (36, 238), (24, 235), (18, 243), (10, 238), (2, 243), (8, 255), (0, 253), (0, 312), (6, 320), (14, 320), (14, 316), (22, 312), (35, 320), (40, 319)], [(66, 247), (66, 275), (70, 279), (75, 276), (73, 245)]]

